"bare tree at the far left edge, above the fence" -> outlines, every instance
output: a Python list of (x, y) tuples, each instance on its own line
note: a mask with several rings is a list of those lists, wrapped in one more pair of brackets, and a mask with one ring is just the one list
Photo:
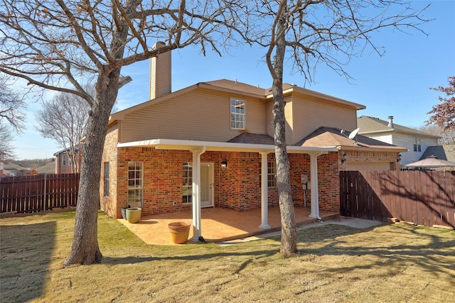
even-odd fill
[(21, 133), (25, 114), (21, 111), (26, 108), (26, 103), (9, 88), (10, 77), (0, 75), (0, 161), (14, 158), (13, 132)]

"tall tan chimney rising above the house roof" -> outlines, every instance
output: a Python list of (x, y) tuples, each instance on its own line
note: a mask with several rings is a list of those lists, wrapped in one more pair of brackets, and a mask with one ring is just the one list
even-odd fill
[[(157, 42), (152, 50), (164, 47), (164, 42)], [(150, 59), (150, 99), (171, 94), (171, 52), (161, 53)]]

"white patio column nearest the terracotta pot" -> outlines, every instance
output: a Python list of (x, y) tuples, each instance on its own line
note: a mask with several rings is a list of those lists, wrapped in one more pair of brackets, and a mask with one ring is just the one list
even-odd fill
[(202, 234), (200, 224), (200, 155), (205, 153), (205, 147), (200, 150), (192, 150), (193, 153), (193, 242), (199, 241)]

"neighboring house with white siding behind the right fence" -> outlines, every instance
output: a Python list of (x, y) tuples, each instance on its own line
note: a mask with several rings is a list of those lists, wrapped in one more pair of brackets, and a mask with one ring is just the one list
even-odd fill
[(407, 153), (401, 153), (401, 165), (422, 159), (428, 148), (439, 148), (437, 146), (439, 136), (396, 124), (393, 122), (393, 116), (389, 116), (387, 121), (371, 116), (360, 116), (357, 118), (357, 127), (360, 128), (358, 132), (360, 135), (407, 148)]

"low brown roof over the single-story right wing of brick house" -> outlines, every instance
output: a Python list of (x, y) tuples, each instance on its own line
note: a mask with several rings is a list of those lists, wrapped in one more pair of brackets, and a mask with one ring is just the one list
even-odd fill
[(341, 134), (340, 128), (321, 126), (309, 136), (306, 136), (296, 145), (303, 147), (336, 146), (343, 150), (388, 150), (405, 152), (407, 148), (392, 145), (362, 135), (355, 136), (354, 140)]

